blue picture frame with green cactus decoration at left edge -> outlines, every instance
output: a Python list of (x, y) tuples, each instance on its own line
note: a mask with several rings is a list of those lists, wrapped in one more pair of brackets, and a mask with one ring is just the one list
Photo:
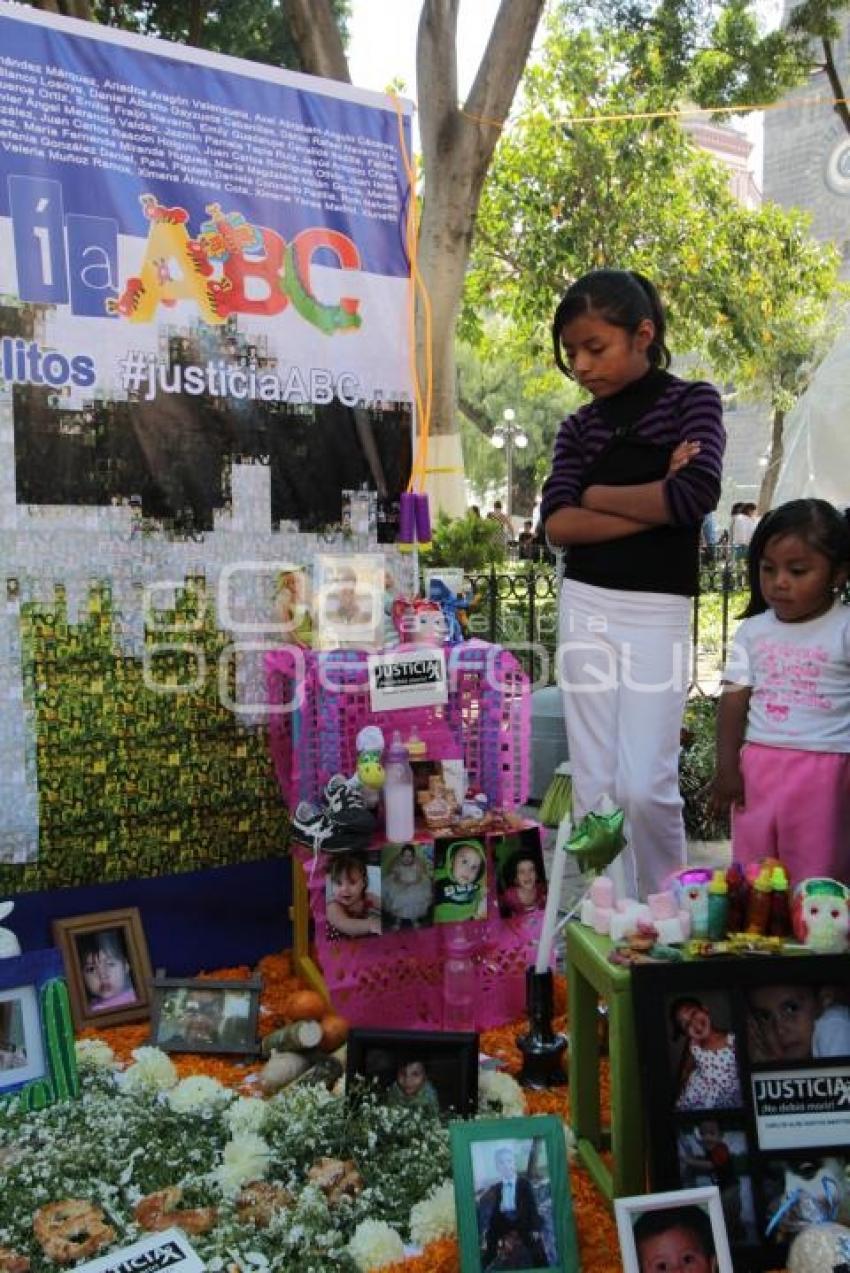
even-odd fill
[(0, 1102), (32, 1109), (79, 1092), (74, 1023), (57, 950), (0, 959)]

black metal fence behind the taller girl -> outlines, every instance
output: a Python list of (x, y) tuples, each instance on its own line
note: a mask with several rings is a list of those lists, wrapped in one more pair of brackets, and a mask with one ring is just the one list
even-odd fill
[[(713, 694), (737, 616), (747, 596), (746, 561), (723, 550), (705, 555), (700, 596), (691, 615), (691, 691)], [(477, 598), (470, 614), (473, 636), (506, 645), (534, 686), (555, 681), (557, 645), (556, 568), (550, 561), (504, 561), (470, 572)]]

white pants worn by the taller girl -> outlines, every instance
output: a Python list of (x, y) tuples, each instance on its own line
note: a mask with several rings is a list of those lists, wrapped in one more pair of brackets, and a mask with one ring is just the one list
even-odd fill
[(565, 579), (559, 685), (564, 694), (575, 819), (608, 794), (626, 815), (630, 896), (664, 887), (685, 864), (678, 787), (688, 687), (687, 597)]

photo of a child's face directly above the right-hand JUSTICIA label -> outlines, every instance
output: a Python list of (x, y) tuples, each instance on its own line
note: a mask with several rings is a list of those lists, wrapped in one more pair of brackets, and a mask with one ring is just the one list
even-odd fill
[(760, 985), (747, 992), (753, 1062), (850, 1057), (850, 1008), (831, 985)]

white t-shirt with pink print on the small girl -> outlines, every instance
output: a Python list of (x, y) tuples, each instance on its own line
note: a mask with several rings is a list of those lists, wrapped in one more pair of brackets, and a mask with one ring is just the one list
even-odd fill
[(850, 606), (800, 624), (744, 619), (723, 679), (752, 687), (747, 742), (850, 752)]

